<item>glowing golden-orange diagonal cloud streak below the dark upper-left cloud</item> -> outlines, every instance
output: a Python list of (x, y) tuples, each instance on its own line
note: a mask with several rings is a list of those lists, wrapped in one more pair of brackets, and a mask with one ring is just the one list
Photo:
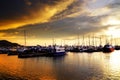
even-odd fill
[[(27, 5), (29, 4), (32, 5), (31, 2), (27, 1)], [(9, 19), (9, 20), (1, 20), (2, 23), (0, 23), (0, 30), (6, 30), (6, 29), (13, 29), (13, 28), (18, 28), (22, 27), (25, 25), (29, 24), (37, 24), (37, 23), (44, 23), (44, 22), (49, 22), (50, 19), (57, 13), (67, 9), (67, 7), (72, 4), (74, 0), (63, 0), (59, 1), (55, 5), (43, 5), (42, 8), (37, 7), (35, 10), (30, 10), (29, 15), (22, 15), (22, 16), (15, 16), (18, 17), (16, 19)], [(40, 5), (40, 4), (39, 4)], [(14, 13), (15, 14), (15, 13)]]

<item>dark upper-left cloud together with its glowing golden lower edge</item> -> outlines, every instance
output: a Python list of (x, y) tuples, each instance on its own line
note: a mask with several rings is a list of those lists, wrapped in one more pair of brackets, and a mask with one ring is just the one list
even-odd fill
[(0, 0), (0, 29), (48, 22), (75, 0)]

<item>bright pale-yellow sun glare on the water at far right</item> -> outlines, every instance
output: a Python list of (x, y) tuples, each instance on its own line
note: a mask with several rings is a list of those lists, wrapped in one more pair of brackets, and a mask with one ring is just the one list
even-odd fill
[(120, 80), (120, 51), (102, 53), (101, 69), (104, 80)]

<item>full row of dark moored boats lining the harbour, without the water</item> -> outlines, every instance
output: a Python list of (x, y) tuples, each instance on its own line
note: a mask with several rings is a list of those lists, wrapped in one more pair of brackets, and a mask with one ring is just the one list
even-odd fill
[(26, 46), (16, 48), (1, 48), (1, 54), (18, 55), (19, 58), (39, 57), (39, 56), (64, 56), (66, 52), (93, 53), (104, 52), (109, 53), (114, 50), (120, 50), (120, 46), (112, 46), (109, 44), (102, 46)]

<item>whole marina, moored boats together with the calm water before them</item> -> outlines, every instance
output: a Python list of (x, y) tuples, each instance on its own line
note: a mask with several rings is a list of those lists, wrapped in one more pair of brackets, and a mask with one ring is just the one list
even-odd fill
[(0, 52), (1, 80), (118, 80), (120, 77), (120, 46), (37, 45), (1, 47)]

